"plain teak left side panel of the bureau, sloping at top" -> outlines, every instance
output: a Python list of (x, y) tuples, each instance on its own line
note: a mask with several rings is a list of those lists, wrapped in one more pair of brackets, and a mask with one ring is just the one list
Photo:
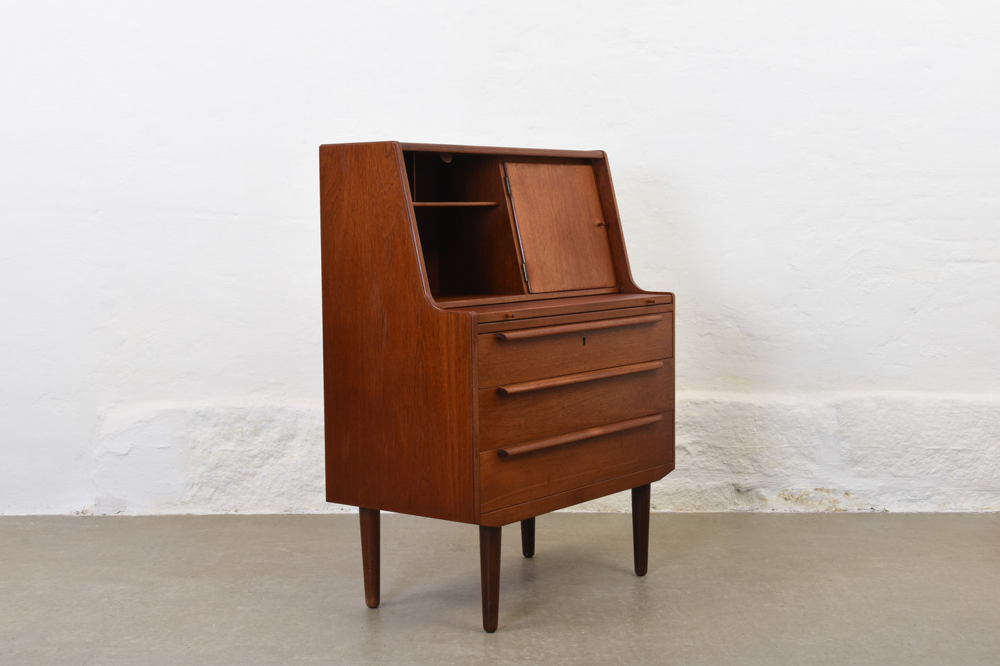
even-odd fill
[(472, 316), (428, 301), (398, 144), (320, 186), (327, 501), (473, 522)]

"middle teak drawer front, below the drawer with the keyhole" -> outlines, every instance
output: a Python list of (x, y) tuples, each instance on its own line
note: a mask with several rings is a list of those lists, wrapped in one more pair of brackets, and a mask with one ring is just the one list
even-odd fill
[[(479, 449), (673, 410), (673, 359), (479, 390)], [(611, 376), (603, 376), (609, 373)]]

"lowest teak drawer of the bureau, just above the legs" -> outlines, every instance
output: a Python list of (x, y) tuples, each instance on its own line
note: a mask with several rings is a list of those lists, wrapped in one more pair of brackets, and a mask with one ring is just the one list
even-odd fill
[[(657, 419), (658, 420), (653, 420)], [(645, 419), (645, 423), (643, 420)], [(538, 441), (479, 454), (480, 511), (494, 511), (599, 483), (674, 460), (674, 414), (652, 414), (607, 427), (623, 429), (577, 441)], [(567, 433), (562, 438), (585, 435)], [(550, 438), (558, 440), (560, 438)], [(504, 455), (505, 452), (509, 455)]]

